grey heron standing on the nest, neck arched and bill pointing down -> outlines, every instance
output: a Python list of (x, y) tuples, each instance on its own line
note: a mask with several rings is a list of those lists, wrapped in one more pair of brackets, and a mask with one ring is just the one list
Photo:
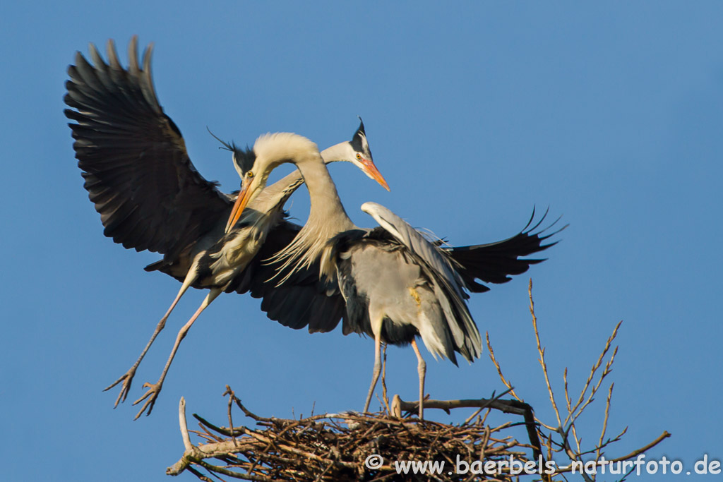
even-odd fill
[(294, 241), (272, 258), (277, 263), (277, 286), (290, 284), (287, 293), (293, 292), (296, 275), (318, 262), (329, 293), (335, 294), (331, 288), (335, 285), (346, 303), (343, 333), (374, 338), (374, 372), (365, 412), (380, 374), (381, 343), (411, 344), (417, 358), (421, 418), (426, 364), (416, 337), (422, 338), (435, 358), (446, 357), (455, 364), (455, 352), (470, 362), (479, 358), (482, 340), (467, 307), (465, 289), (486, 291), (476, 278), (493, 283), (508, 280), (508, 274), (542, 261), (519, 256), (554, 244), (542, 245), (555, 233), (531, 233), (536, 225), (499, 243), (445, 250), (440, 241), (427, 240), (393, 212), (372, 202), (364, 203), (361, 210), (380, 226), (358, 228), (341, 205), (314, 142), (297, 134), (266, 134), (257, 139), (253, 153), (255, 160), (245, 173), (228, 225), (234, 225), (247, 203), (254, 202), (270, 171), (281, 163), (296, 165), (309, 189), (311, 208)]

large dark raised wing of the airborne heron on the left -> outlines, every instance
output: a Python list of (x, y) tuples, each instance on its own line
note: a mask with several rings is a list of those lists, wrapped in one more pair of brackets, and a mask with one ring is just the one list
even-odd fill
[(68, 67), (65, 115), (88, 197), (105, 235), (137, 251), (176, 257), (210, 231), (229, 208), (228, 198), (194, 168), (183, 137), (158, 103), (150, 73), (152, 46), (129, 68), (108, 40), (108, 64), (90, 45), (91, 65), (80, 52)]

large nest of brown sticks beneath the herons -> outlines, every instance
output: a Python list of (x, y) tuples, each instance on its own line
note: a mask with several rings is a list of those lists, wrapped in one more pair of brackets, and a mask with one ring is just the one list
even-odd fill
[[(444, 469), (433, 480), (511, 481), (504, 473), (489, 478), (471, 472), (457, 474), (457, 458), (466, 462), (509, 461), (511, 456), (524, 462), (525, 453), (529, 453), (529, 445), (500, 433), (510, 423), (490, 428), (480, 417), (458, 425), (382, 413), (317, 415), (299, 420), (265, 418), (249, 412), (234, 395), (231, 397), (257, 428), (233, 425), (231, 400), (231, 429), (215, 426), (194, 414), (200, 431), (192, 433), (205, 439), (205, 443), (193, 446), (186, 442), (186, 434), (186, 452), (176, 465), (168, 468), (168, 474), (188, 470), (204, 481), (213, 479), (204, 475), (202, 469), (221, 480), (231, 477), (248, 481), (428, 481), (429, 473), (414, 474), (409, 470), (408, 474), (398, 474), (395, 461), (443, 460)], [(381, 456), (383, 462), (379, 464), (380, 459), (372, 455)], [(210, 463), (210, 459), (215, 462)]]

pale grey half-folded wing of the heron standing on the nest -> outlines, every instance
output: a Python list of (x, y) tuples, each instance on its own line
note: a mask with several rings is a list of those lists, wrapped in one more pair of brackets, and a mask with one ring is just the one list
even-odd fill
[(469, 361), (479, 357), (482, 353), (482, 338), (465, 303), (469, 296), (463, 291), (464, 280), (449, 257), (386, 207), (375, 202), (365, 202), (361, 210), (375, 218), (420, 263), (433, 281), (437, 301), (445, 313), (455, 346)]

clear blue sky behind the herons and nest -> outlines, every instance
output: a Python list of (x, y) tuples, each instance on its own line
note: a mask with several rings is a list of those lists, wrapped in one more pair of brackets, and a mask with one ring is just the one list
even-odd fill
[[(103, 236), (63, 116), (75, 51), (132, 35), (155, 43), (161, 104), (198, 170), (237, 189), (224, 139), (291, 131), (320, 147), (364, 119), (384, 191), (350, 165), (332, 175), (351, 218), (375, 201), (456, 245), (496, 241), (549, 206), (570, 228), (526, 275), (471, 299), (505, 374), (550, 419), (527, 308), (558, 392), (579, 387), (619, 320), (609, 455), (667, 430), (650, 452), (721, 460), (720, 152), (723, 6), (717, 2), (11, 2), (0, 15), (5, 166), (0, 447), (7, 480), (165, 480), (188, 410), (225, 421), (225, 384), (264, 415), (360, 410), (373, 343), (270, 322), (258, 301), (224, 295), (181, 345), (153, 414), (112, 410), (124, 373), (179, 284), (158, 259)], [(290, 203), (303, 221), (307, 193)], [(203, 293), (179, 304), (129, 398), (155, 382)], [(423, 353), (427, 353), (424, 351)], [(388, 386), (416, 396), (416, 358), (390, 348)], [(502, 390), (481, 360), (427, 358), (434, 398)], [(599, 397), (598, 404), (604, 402)], [(583, 421), (596, 439), (598, 412)], [(594, 410), (593, 410), (594, 411)], [(440, 419), (444, 419), (441, 416)], [(500, 419), (501, 420), (501, 419)], [(192, 475), (183, 475), (194, 480)], [(658, 476), (643, 477), (657, 480)]]

